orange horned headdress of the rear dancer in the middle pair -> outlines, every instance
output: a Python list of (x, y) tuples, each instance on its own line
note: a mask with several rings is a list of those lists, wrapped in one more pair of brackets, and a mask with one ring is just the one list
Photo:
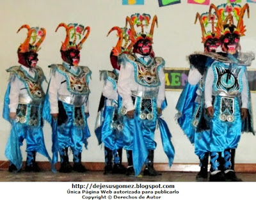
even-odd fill
[[(120, 54), (129, 54), (132, 50), (132, 43), (131, 40), (129, 40), (129, 32), (130, 30), (126, 27), (118, 27), (114, 26), (110, 29), (108, 32), (108, 35), (112, 31), (117, 31), (118, 41), (116, 43), (116, 46), (113, 47), (112, 52), (114, 56), (119, 56)], [(108, 36), (107, 35), (107, 36)]]

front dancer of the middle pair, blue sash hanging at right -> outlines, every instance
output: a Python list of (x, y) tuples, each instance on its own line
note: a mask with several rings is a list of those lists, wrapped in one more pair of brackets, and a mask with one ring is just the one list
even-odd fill
[[(118, 93), (122, 96), (124, 118), (124, 149), (131, 152), (128, 157), (127, 175), (140, 174), (145, 164), (144, 175), (160, 175), (154, 169), (154, 132), (157, 121), (160, 127), (163, 147), (172, 165), (174, 148), (170, 141), (171, 134), (163, 119), (159, 118), (162, 109), (166, 107), (164, 59), (153, 58), (152, 43), (154, 26), (157, 17), (154, 16), (150, 33), (144, 33), (144, 27), (150, 22), (150, 15), (136, 13), (126, 21), (131, 26), (129, 37), (133, 43), (132, 54), (122, 57), (118, 78)], [(136, 33), (134, 25), (141, 27), (141, 33)], [(130, 161), (130, 162), (129, 162)]]

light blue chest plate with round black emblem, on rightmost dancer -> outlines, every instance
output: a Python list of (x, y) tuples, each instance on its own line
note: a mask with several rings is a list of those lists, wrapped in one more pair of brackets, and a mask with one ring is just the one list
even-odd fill
[(218, 93), (225, 92), (228, 95), (236, 95), (241, 92), (241, 76), (242, 68), (239, 66), (214, 65), (215, 86)]

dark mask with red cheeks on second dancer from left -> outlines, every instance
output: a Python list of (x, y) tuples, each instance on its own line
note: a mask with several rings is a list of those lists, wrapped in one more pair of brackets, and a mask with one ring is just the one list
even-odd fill
[(80, 61), (80, 51), (78, 49), (61, 50), (61, 58), (63, 61), (72, 66), (77, 66)]

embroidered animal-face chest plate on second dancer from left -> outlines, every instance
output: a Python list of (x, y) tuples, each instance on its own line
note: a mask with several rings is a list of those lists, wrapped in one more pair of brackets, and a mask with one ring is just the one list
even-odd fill
[(91, 74), (87, 66), (77, 66), (77, 72), (68, 70), (63, 65), (58, 65), (58, 72), (65, 76), (67, 89), (74, 95), (89, 95), (88, 76)]

